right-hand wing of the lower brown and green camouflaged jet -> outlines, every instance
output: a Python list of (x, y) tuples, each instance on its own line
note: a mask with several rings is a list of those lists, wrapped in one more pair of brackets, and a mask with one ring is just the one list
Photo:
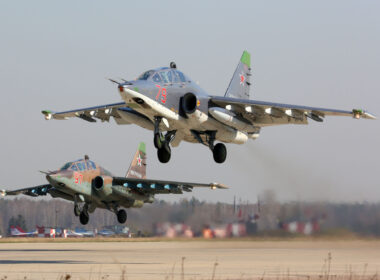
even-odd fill
[(210, 183), (190, 183), (178, 181), (163, 181), (152, 179), (134, 179), (125, 177), (114, 177), (113, 189), (117, 191), (125, 190), (126, 188), (135, 190), (143, 194), (164, 194), (176, 193), (181, 194), (183, 191), (191, 192), (193, 188), (210, 188), (210, 189), (227, 189), (223, 184)]

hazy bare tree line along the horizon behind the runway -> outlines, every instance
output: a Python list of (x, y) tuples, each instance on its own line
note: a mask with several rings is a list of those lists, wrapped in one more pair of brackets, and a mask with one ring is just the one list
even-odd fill
[[(156, 223), (185, 223), (194, 231), (205, 225), (220, 225), (247, 221), (255, 215), (259, 232), (278, 230), (280, 222), (321, 221), (323, 231), (345, 229), (361, 235), (380, 236), (380, 203), (324, 203), (287, 202), (279, 203), (271, 192), (264, 194), (260, 205), (238, 201), (207, 203), (197, 199), (181, 200), (177, 203), (156, 201), (140, 209), (128, 209), (127, 225), (134, 231), (151, 233)], [(21, 215), (25, 220), (24, 230), (36, 226), (75, 228), (83, 227), (73, 213), (73, 203), (61, 199), (30, 199), (19, 197), (0, 200), (0, 234), (8, 233), (10, 220)], [(97, 209), (90, 216), (88, 229), (100, 229), (117, 224), (113, 213)]]

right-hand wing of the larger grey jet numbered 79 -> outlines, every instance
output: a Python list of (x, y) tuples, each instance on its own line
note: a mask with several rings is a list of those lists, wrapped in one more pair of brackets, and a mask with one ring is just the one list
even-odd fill
[(234, 117), (259, 127), (291, 123), (307, 124), (308, 118), (322, 122), (325, 116), (376, 119), (374, 115), (361, 109), (345, 111), (219, 96), (211, 97), (209, 107), (213, 106), (225, 108)]

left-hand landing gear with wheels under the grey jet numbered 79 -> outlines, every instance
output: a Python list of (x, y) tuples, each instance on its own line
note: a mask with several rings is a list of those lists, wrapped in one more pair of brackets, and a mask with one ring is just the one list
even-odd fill
[(176, 131), (168, 131), (165, 135), (160, 131), (162, 117), (155, 117), (153, 143), (157, 149), (158, 160), (167, 163), (171, 157), (170, 142), (174, 139)]

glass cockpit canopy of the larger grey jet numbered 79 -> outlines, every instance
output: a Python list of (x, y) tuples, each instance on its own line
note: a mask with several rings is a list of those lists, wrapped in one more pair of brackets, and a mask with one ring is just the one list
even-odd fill
[(174, 68), (158, 68), (142, 73), (137, 80), (151, 80), (154, 83), (185, 83), (189, 81), (186, 76)]

